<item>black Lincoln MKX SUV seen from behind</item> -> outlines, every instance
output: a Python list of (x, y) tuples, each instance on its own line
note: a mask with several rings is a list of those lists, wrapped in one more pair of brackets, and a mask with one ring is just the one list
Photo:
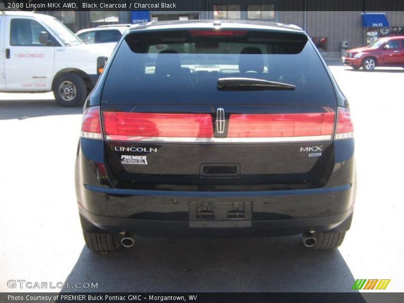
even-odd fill
[(338, 247), (355, 203), (353, 137), (344, 95), (296, 26), (131, 27), (84, 105), (85, 242), (302, 234)]

